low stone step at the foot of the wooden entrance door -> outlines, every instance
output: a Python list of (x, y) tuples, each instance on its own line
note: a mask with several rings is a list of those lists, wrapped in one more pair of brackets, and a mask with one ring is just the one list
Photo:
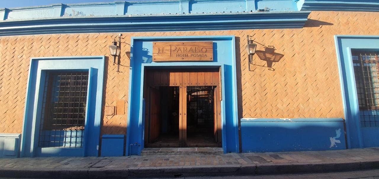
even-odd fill
[(167, 147), (144, 148), (141, 155), (222, 154), (221, 147)]

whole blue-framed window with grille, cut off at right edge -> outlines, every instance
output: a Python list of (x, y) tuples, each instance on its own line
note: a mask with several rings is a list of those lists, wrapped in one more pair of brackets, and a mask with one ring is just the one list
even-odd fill
[(335, 45), (348, 148), (377, 147), (377, 66), (372, 57), (357, 52), (379, 51), (379, 36), (335, 35)]

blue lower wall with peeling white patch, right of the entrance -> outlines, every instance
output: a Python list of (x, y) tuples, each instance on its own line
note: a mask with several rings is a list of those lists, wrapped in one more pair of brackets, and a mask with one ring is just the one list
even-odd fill
[(241, 119), (242, 152), (346, 149), (340, 118)]

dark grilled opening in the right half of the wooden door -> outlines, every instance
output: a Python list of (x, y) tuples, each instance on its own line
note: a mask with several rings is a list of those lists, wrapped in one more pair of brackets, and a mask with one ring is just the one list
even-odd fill
[(213, 86), (187, 86), (187, 122), (213, 125)]

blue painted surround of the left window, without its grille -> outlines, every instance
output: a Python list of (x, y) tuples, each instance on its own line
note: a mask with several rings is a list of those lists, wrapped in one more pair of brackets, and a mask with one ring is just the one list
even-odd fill
[[(31, 58), (22, 131), (21, 156), (97, 156), (104, 80), (104, 56)], [(85, 145), (82, 148), (38, 147), (44, 78), (51, 70), (89, 71)], [(90, 122), (90, 123), (89, 123)], [(36, 132), (37, 131), (37, 132)]]

